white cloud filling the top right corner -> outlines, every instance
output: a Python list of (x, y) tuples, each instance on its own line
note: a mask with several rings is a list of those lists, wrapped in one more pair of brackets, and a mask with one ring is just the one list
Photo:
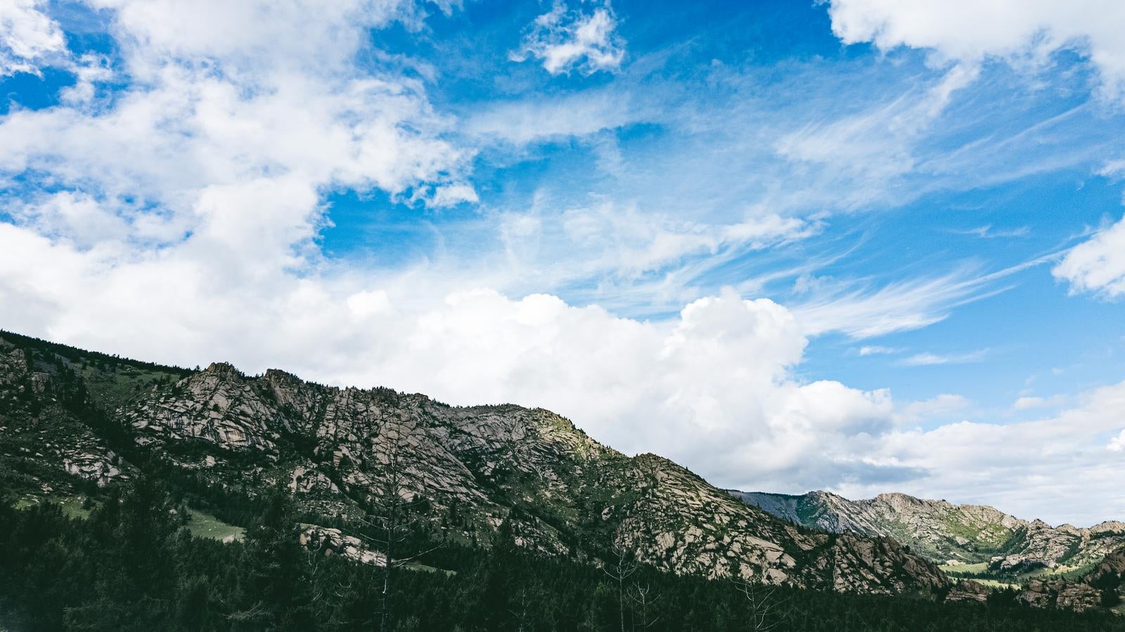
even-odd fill
[(1113, 0), (831, 0), (829, 16), (845, 44), (929, 48), (942, 61), (1037, 65), (1073, 49), (1098, 69), (1108, 97), (1125, 90), (1125, 6)]

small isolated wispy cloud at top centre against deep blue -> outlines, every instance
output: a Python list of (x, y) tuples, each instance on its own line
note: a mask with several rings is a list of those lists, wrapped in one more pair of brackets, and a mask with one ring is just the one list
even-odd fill
[(564, 0), (555, 0), (551, 10), (532, 22), (523, 45), (510, 58), (542, 60), (551, 74), (577, 69), (584, 74), (616, 71), (624, 60), (624, 40), (614, 33), (618, 21), (609, 2), (592, 12), (570, 10)]

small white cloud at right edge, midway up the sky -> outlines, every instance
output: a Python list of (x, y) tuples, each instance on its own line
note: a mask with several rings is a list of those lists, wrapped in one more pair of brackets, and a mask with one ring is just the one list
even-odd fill
[(1070, 282), (1072, 292), (1125, 295), (1125, 218), (1072, 247), (1051, 273)]

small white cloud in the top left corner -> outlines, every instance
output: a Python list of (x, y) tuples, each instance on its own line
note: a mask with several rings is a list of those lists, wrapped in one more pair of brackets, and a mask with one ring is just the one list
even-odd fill
[(39, 73), (39, 65), (64, 55), (66, 40), (58, 24), (39, 9), (42, 0), (0, 2), (0, 76)]

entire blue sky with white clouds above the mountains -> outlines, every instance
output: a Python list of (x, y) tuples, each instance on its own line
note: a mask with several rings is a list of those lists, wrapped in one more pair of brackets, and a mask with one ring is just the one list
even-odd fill
[(1125, 520), (1117, 0), (8, 0), (0, 328)]

